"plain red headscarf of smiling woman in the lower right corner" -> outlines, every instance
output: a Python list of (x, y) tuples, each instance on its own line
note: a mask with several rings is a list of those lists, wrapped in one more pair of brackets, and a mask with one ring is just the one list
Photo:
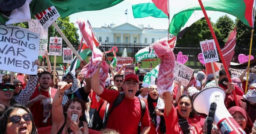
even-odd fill
[(233, 115), (235, 112), (240, 112), (243, 115), (243, 117), (245, 117), (245, 120), (246, 120), (245, 129), (252, 130), (253, 124), (252, 124), (252, 121), (250, 120), (249, 116), (247, 115), (245, 109), (242, 109), (239, 106), (232, 106), (230, 109), (228, 109), (228, 112), (230, 112), (231, 115)]

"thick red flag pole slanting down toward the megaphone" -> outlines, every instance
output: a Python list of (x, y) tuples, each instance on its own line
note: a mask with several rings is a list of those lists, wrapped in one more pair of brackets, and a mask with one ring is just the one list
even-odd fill
[[(205, 11), (205, 7), (203, 6), (203, 3), (202, 3), (201, 0), (198, 0), (198, 1), (199, 1), (199, 4), (200, 4), (200, 7), (202, 8), (203, 14), (205, 15), (205, 19), (206, 19), (207, 24), (208, 24), (208, 26), (209, 26), (209, 28), (210, 28), (211, 35), (213, 36), (213, 39), (214, 39), (215, 44), (216, 44), (216, 47), (217, 47), (218, 52), (219, 52), (219, 54), (220, 54), (221, 61), (223, 62), (224, 69), (225, 69), (225, 71), (226, 71), (226, 73), (227, 73), (228, 82), (232, 82), (232, 81), (231, 81), (231, 77), (230, 77), (230, 73), (228, 72), (228, 68), (227, 68), (226, 62), (225, 62), (225, 60), (224, 60), (223, 54), (222, 54), (221, 49), (220, 49), (220, 45), (218, 44), (217, 37), (216, 37), (216, 35), (215, 35), (214, 31), (213, 31), (213, 28), (212, 28), (212, 26), (211, 26), (211, 22), (210, 22), (210, 20), (209, 20), (209, 18), (208, 18), (208, 15), (207, 15), (206, 11)], [(236, 106), (239, 106), (239, 105), (238, 105), (238, 101), (237, 101), (237, 97), (236, 97), (236, 94), (235, 94), (235, 90), (233, 90), (232, 93), (233, 93), (233, 95), (234, 95), (235, 105), (236, 105)]]

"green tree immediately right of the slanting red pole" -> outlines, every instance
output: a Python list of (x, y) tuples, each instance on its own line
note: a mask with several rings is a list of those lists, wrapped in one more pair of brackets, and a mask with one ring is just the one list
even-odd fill
[(228, 15), (224, 15), (217, 19), (214, 27), (220, 31), (218, 43), (220, 44), (220, 48), (223, 48), (227, 42), (229, 33), (234, 29), (234, 21)]

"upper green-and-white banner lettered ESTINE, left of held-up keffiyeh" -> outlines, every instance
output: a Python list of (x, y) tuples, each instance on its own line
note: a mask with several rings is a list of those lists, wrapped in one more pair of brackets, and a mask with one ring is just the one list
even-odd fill
[(154, 58), (156, 57), (156, 54), (154, 54), (154, 50), (153, 48), (151, 49), (150, 46), (143, 48), (141, 50), (139, 50), (136, 54), (135, 54), (135, 60), (137, 62), (142, 61), (143, 59), (149, 59), (149, 58)]

